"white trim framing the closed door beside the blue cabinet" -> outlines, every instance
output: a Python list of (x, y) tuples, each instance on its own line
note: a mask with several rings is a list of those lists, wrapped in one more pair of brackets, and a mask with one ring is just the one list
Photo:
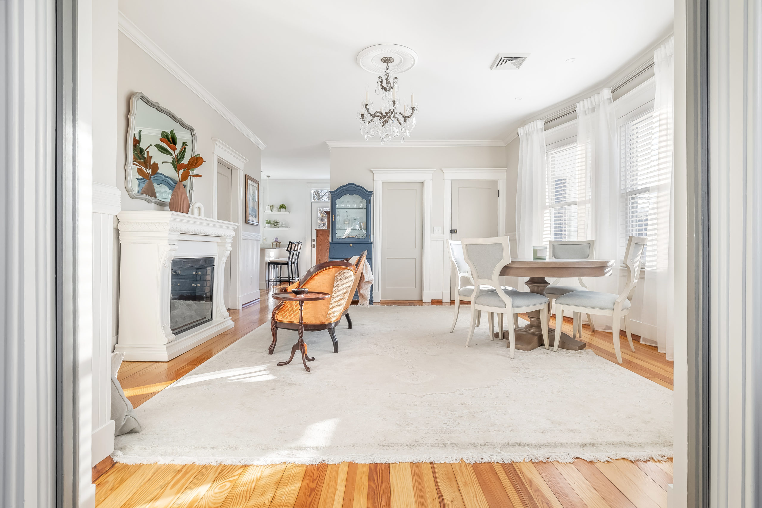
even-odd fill
[[(381, 259), (381, 204), (383, 203), (384, 182), (423, 182), (424, 184), (424, 238), (423, 251), (421, 252), (421, 285), (423, 286), (423, 301), (431, 302), (431, 181), (434, 178), (435, 169), (371, 169), (373, 171), (373, 280), (381, 280), (383, 262)], [(381, 300), (379, 284), (373, 284), (373, 301)]]

